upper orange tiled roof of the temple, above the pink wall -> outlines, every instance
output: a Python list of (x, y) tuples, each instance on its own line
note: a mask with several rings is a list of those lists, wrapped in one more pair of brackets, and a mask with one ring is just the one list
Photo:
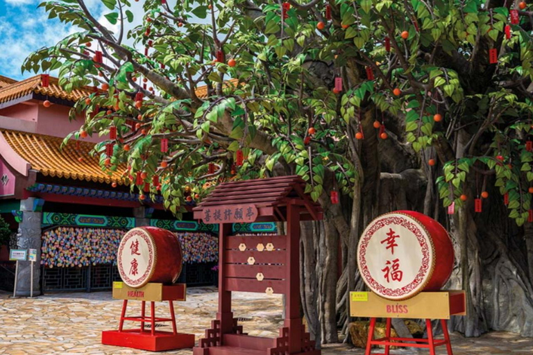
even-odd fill
[(85, 87), (83, 89), (74, 89), (72, 92), (66, 92), (59, 86), (58, 78), (50, 77), (49, 86), (42, 87), (41, 76), (33, 76), (26, 80), (18, 81), (0, 89), (0, 103), (6, 103), (16, 98), (26, 96), (34, 92), (35, 94), (42, 94), (53, 96), (55, 98), (62, 98), (69, 101), (78, 101), (80, 98), (88, 96), (94, 92), (94, 89)]

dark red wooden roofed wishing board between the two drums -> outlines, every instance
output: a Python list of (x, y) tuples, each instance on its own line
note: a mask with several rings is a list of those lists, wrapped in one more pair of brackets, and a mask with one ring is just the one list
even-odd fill
[[(323, 211), (297, 175), (227, 182), (198, 207), (194, 218), (219, 223), (219, 311), (194, 355), (319, 355), (300, 313), (300, 221)], [(286, 222), (286, 235), (232, 236), (232, 223)], [(232, 291), (285, 295), (278, 338), (248, 336), (233, 318)]]

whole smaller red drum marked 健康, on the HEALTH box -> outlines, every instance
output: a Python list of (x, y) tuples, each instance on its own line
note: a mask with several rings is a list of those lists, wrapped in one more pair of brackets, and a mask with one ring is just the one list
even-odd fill
[(178, 237), (158, 227), (133, 228), (124, 234), (117, 252), (120, 277), (135, 288), (149, 282), (174, 284), (182, 263)]

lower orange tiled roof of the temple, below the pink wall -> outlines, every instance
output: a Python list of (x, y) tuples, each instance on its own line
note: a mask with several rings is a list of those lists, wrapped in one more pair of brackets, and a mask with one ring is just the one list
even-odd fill
[[(126, 166), (119, 166), (112, 175), (102, 171), (99, 157), (90, 156), (93, 143), (80, 141), (76, 149), (74, 141), (60, 149), (62, 139), (34, 133), (1, 130), (3, 137), (15, 152), (31, 164), (31, 168), (43, 175), (93, 182), (117, 182), (123, 184), (121, 173)], [(83, 162), (78, 159), (83, 157)]]

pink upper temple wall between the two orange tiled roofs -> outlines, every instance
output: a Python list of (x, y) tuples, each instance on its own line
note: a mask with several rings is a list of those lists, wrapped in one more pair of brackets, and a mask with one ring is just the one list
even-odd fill
[[(0, 128), (65, 138), (83, 123), (81, 118), (69, 121), (69, 110), (70, 107), (62, 105), (44, 107), (40, 101), (33, 100), (19, 103), (0, 110)], [(94, 136), (84, 140), (96, 143), (104, 138)]]

